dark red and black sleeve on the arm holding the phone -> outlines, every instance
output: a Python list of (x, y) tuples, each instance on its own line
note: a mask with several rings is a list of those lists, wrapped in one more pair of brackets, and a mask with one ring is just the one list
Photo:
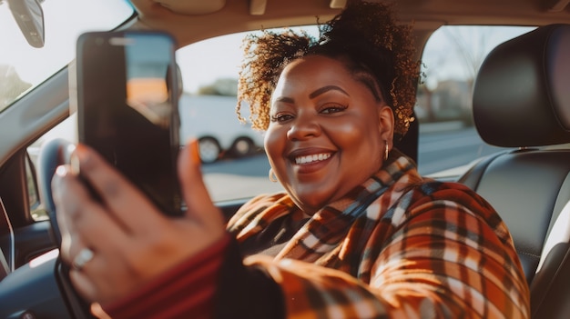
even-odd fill
[(243, 264), (230, 235), (103, 309), (113, 319), (285, 317), (280, 286)]

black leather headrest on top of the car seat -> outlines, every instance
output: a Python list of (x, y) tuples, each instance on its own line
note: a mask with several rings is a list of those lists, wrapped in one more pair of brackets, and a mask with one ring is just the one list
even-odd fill
[(498, 45), (473, 89), (485, 142), (503, 147), (570, 143), (570, 25), (545, 25)]

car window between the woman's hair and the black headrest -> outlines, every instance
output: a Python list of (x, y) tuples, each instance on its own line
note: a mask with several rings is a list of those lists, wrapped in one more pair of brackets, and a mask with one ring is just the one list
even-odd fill
[(414, 108), (420, 123), (420, 174), (456, 177), (473, 160), (501, 150), (484, 143), (473, 125), (473, 82), (496, 45), (532, 29), (444, 25), (433, 33), (423, 50), (423, 80)]

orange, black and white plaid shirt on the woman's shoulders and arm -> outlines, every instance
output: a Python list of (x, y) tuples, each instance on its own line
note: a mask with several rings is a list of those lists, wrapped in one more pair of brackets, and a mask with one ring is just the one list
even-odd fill
[[(239, 242), (299, 213), (262, 195), (229, 221)], [(529, 290), (498, 214), (462, 184), (422, 178), (397, 151), (390, 163), (314, 214), (275, 257), (253, 254), (280, 285), (288, 317), (526, 318)]]

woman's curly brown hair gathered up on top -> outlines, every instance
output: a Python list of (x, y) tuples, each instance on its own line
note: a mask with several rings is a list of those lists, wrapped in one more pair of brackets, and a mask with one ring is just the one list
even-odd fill
[[(319, 30), (319, 39), (292, 30), (265, 30), (260, 35), (246, 36), (239, 72), (239, 119), (245, 121), (240, 114), (241, 103), (245, 102), (252, 127), (266, 130), (271, 94), (283, 68), (305, 55), (326, 55), (343, 61), (372, 93), (378, 95), (380, 91), (394, 111), (394, 134), (405, 135), (413, 121), (420, 75), (420, 62), (414, 61), (412, 27), (396, 23), (391, 5), (349, 1), (340, 15), (319, 25)], [(367, 81), (370, 75), (373, 79)]]

